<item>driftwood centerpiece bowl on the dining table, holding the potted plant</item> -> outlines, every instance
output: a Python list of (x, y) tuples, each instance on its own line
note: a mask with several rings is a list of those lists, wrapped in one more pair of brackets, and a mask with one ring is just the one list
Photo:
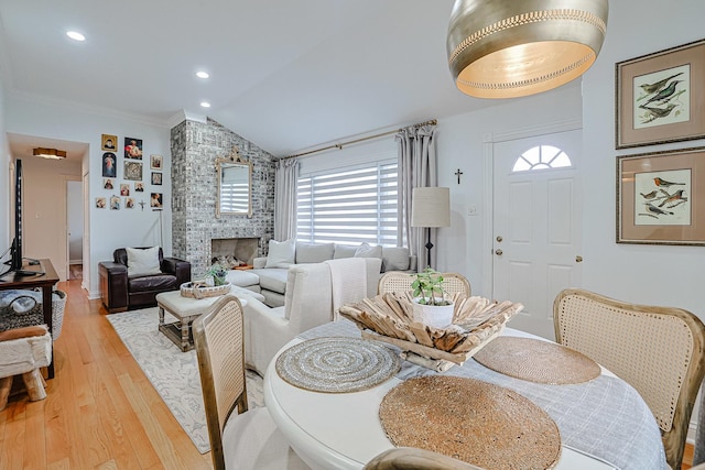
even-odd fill
[(405, 293), (387, 293), (344, 305), (340, 315), (362, 330), (362, 338), (389, 342), (402, 350), (402, 358), (443, 372), (463, 364), (497, 337), (522, 304), (491, 302), (484, 297), (453, 297), (453, 325), (440, 329), (413, 320), (413, 305)]

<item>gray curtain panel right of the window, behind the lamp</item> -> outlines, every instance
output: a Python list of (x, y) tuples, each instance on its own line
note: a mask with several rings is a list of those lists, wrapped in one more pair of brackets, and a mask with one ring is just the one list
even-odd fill
[[(398, 229), (405, 234), (411, 254), (419, 256), (419, 271), (426, 267), (429, 229), (411, 227), (411, 194), (415, 187), (438, 185), (435, 134), (436, 127), (426, 124), (401, 129), (395, 135), (399, 144)], [(435, 245), (436, 229), (430, 230), (431, 243)], [(431, 253), (432, 266), (436, 264), (435, 252), (432, 250)]]

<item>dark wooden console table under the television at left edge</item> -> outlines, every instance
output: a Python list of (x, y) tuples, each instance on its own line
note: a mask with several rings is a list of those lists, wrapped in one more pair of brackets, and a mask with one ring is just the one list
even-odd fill
[[(39, 264), (25, 264), (22, 271), (26, 275), (19, 275), (15, 272), (7, 273), (0, 277), (0, 291), (9, 291), (11, 288), (30, 289), (34, 287), (42, 288), (42, 308), (44, 309), (44, 323), (48, 327), (48, 332), (53, 330), (52, 325), (52, 289), (54, 284), (58, 282), (58, 275), (52, 262), (39, 260)], [(36, 274), (29, 274), (30, 271)], [(47, 378), (54, 379), (54, 345), (52, 341), (52, 362), (46, 368)]]

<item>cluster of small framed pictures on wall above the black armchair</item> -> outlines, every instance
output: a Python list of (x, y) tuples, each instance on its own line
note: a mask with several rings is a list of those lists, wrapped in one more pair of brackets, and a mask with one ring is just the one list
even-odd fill
[[(134, 209), (140, 206), (160, 208), (163, 205), (162, 170), (164, 159), (162, 155), (149, 156), (149, 190), (147, 177), (147, 157), (144, 157), (144, 142), (142, 139), (126, 136), (120, 149), (118, 135), (101, 134), (100, 150), (102, 159), (102, 189), (105, 196), (96, 197), (96, 208), (111, 210)], [(122, 179), (118, 178), (118, 167), (122, 161)], [(149, 193), (149, 200), (147, 194)]]

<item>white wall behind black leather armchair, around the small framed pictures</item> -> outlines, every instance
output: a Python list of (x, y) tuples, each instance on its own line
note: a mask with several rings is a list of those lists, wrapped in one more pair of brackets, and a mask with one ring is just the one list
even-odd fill
[[(131, 117), (105, 116), (91, 109), (79, 109), (66, 103), (40, 102), (10, 95), (7, 99), (6, 131), (19, 134), (36, 135), (85, 142), (89, 145), (88, 162), (84, 162), (83, 173), (89, 173), (89, 200), (96, 197), (109, 197), (117, 192), (102, 188), (100, 135), (118, 135), (120, 143), (124, 136), (143, 141), (143, 178), (145, 192), (137, 196), (135, 201), (145, 201), (144, 210), (138, 205), (134, 209), (97, 209), (90, 205), (90, 253), (84, 253), (84, 260), (90, 260), (88, 291), (91, 298), (99, 296), (98, 262), (112, 260), (112, 251), (119, 247), (159, 244), (159, 212), (149, 207), (151, 189), (163, 193), (164, 205), (164, 253), (172, 252), (171, 240), (171, 150), (170, 130), (166, 125), (138, 120)], [(163, 156), (163, 185), (152, 187), (150, 182), (149, 156)], [(118, 154), (118, 183), (123, 182), (122, 155)], [(159, 189), (159, 190), (156, 190)], [(7, 219), (6, 219), (7, 220)], [(84, 273), (87, 270), (84, 270)], [(86, 282), (86, 280), (84, 280)]]

